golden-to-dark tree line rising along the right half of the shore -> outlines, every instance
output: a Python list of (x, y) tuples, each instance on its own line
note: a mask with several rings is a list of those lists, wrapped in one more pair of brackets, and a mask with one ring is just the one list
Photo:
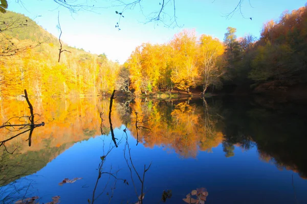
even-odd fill
[(237, 38), (228, 27), (224, 41), (183, 31), (165, 44), (144, 43), (124, 64), (130, 88), (147, 93), (200, 86), (247, 86), (250, 91), (287, 90), (306, 82), (307, 7), (268, 21), (260, 38)]

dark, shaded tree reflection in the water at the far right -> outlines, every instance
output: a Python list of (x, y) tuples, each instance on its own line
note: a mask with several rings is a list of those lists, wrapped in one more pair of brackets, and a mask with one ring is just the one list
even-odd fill
[(249, 149), (256, 144), (262, 160), (307, 177), (305, 108), (293, 104), (274, 106), (273, 103), (263, 108), (246, 102), (236, 100), (225, 104), (223, 147), (226, 155), (233, 154), (234, 145)]

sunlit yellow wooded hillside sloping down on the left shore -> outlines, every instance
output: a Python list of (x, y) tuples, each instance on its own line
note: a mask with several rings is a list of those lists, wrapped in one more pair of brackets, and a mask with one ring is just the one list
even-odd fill
[(14, 12), (0, 15), (0, 91), (17, 96), (97, 95), (115, 88), (120, 65), (104, 54), (93, 55), (64, 42), (58, 63), (58, 39), (30, 18)]

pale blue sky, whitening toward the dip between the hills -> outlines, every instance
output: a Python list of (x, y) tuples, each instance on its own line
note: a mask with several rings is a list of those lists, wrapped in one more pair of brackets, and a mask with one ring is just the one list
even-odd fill
[[(95, 5), (94, 9), (75, 13), (59, 6), (54, 0), (8, 0), (8, 10), (25, 14), (42, 28), (59, 36), (58, 12), (62, 30), (61, 40), (70, 46), (83, 48), (93, 54), (105, 53), (108, 59), (124, 63), (131, 52), (142, 43), (166, 43), (183, 29), (195, 30), (198, 36), (211, 35), (223, 41), (227, 27), (237, 29), (237, 36), (252, 34), (259, 37), (262, 26), (269, 20), (278, 20), (285, 10), (303, 7), (305, 0), (244, 0), (241, 12), (226, 17), (239, 0), (176, 0), (179, 27), (168, 27), (164, 22), (147, 22), (150, 13), (159, 11), (163, 0), (142, 0), (142, 10), (136, 6), (123, 12), (120, 31), (115, 28), (121, 7), (116, 0), (66, 0), (75, 4)], [(134, 2), (135, 0), (123, 0)], [(166, 1), (165, 1), (166, 2)], [(173, 14), (173, 4), (165, 7), (167, 15)], [(250, 19), (252, 18), (252, 20)]]

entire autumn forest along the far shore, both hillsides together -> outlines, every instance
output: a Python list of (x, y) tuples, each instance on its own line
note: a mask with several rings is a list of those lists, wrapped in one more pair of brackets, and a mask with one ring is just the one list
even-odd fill
[(120, 65), (63, 43), (30, 18), (8, 11), (0, 24), (0, 91), (3, 97), (94, 96), (114, 89), (140, 95), (158, 91), (288, 91), (307, 80), (307, 7), (283, 12), (264, 24), (260, 38), (224, 41), (183, 30), (165, 44), (143, 43)]

